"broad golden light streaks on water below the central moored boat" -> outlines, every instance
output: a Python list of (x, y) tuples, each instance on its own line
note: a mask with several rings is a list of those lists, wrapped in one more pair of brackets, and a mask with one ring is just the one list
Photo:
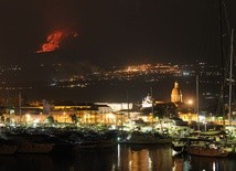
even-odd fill
[(120, 160), (118, 160), (120, 168), (118, 170), (165, 171), (172, 168), (172, 150), (169, 147), (121, 146), (120, 149)]

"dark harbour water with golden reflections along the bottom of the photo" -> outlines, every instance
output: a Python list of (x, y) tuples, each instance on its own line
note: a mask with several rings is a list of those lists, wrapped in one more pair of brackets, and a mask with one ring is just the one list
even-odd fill
[(117, 146), (74, 153), (1, 156), (0, 171), (235, 171), (236, 158), (172, 157), (170, 147)]

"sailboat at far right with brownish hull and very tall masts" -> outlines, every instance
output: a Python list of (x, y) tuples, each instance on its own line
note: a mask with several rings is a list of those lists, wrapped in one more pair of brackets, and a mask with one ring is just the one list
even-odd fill
[[(222, 6), (224, 2), (219, 0), (219, 11), (222, 11)], [(221, 14), (219, 14), (221, 15)], [(222, 22), (222, 17), (221, 17), (221, 22)], [(221, 23), (222, 26), (222, 23)], [(229, 70), (228, 70), (228, 85), (229, 85), (229, 92), (228, 92), (228, 117), (226, 119), (225, 117), (225, 83), (226, 79), (226, 66), (224, 65), (224, 47), (223, 47), (223, 39), (222, 39), (222, 28), (221, 28), (221, 46), (222, 46), (222, 95), (221, 95), (221, 109), (223, 114), (223, 128), (221, 132), (217, 131), (205, 131), (201, 132), (201, 138), (196, 138), (187, 145), (187, 153), (190, 154), (195, 154), (195, 156), (205, 156), (205, 157), (227, 157), (232, 154), (236, 154), (236, 137), (229, 136), (228, 135), (228, 128), (234, 128), (232, 126), (232, 88), (233, 88), (233, 38), (234, 38), (234, 30), (232, 30), (230, 34), (230, 60), (229, 60)], [(199, 113), (199, 110), (197, 110)], [(227, 125), (227, 126), (226, 126)], [(235, 129), (236, 130), (236, 129)], [(225, 133), (226, 132), (226, 133)]]

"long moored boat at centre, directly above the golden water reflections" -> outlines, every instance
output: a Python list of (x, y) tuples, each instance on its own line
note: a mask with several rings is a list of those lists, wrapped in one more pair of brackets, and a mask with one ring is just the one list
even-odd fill
[(132, 131), (122, 139), (118, 139), (118, 143), (126, 145), (171, 145), (172, 140), (169, 137), (152, 132)]

